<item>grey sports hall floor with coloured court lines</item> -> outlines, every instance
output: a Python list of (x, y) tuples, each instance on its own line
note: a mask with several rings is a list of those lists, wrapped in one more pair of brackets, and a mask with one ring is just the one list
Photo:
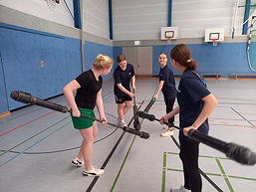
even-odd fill
[[(177, 81), (178, 84), (178, 81)], [(209, 117), (210, 135), (256, 151), (256, 81), (207, 80), (208, 89), (218, 98)], [(136, 81), (136, 102), (141, 110), (148, 104), (157, 80)], [(116, 123), (117, 105), (113, 81), (104, 84), (103, 97), (108, 120)], [(64, 96), (50, 101), (66, 105)], [(160, 117), (165, 106), (162, 96), (149, 113)], [(130, 122), (132, 110), (126, 121)], [(82, 137), (73, 128), (70, 115), (31, 105), (0, 118), (1, 192), (164, 192), (183, 184), (178, 157), (178, 131), (162, 138), (164, 127), (156, 121), (141, 120), (148, 139), (99, 124), (94, 144), (94, 164), (105, 167), (100, 178), (85, 177), (83, 168), (74, 167)], [(178, 116), (175, 117), (178, 125)], [(132, 122), (130, 122), (132, 127)], [(175, 143), (175, 141), (177, 141)], [(241, 165), (225, 154), (200, 144), (203, 191), (255, 192), (256, 166)], [(213, 187), (215, 185), (215, 188)]]

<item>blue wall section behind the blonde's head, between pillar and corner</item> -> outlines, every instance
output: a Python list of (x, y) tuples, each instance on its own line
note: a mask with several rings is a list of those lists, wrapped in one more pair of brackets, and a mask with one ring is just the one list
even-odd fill
[[(110, 58), (113, 58), (113, 47), (105, 46), (105, 45), (101, 45), (93, 42), (86, 42), (84, 53), (85, 53), (85, 70), (88, 71), (92, 69), (93, 64), (96, 60), (96, 57), (99, 54), (103, 54), (103, 55), (109, 56)], [(108, 80), (112, 77), (113, 77), (113, 70), (109, 75), (103, 76), (103, 79)]]

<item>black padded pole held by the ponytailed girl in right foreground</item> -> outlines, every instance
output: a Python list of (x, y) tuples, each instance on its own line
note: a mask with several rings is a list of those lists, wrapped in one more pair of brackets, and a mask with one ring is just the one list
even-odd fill
[[(159, 119), (155, 118), (153, 114), (148, 114), (144, 111), (138, 111), (137, 115), (146, 118), (150, 121), (157, 120), (160, 121)], [(177, 129), (180, 129), (180, 127), (171, 125), (172, 127), (175, 127)], [(256, 153), (251, 151), (249, 148), (230, 142), (227, 143), (225, 141), (222, 141), (220, 139), (214, 138), (209, 135), (205, 135), (198, 130), (190, 129), (188, 131), (188, 137), (191, 138), (192, 140), (202, 142), (212, 148), (215, 148), (223, 153), (225, 155), (241, 164), (244, 165), (255, 165), (256, 164)]]

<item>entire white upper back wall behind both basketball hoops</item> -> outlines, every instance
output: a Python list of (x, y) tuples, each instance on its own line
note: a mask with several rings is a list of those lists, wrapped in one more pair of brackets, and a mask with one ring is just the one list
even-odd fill
[[(231, 35), (237, 0), (172, 0), (171, 26), (179, 38), (204, 37), (206, 28), (224, 28)], [(245, 5), (240, 0), (239, 5)], [(114, 40), (153, 40), (167, 26), (168, 0), (113, 0)], [(238, 9), (236, 34), (242, 34), (244, 7)]]

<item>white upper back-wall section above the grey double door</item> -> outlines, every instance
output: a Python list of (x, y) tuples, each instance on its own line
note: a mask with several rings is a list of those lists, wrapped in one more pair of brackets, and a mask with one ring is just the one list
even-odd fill
[(151, 40), (167, 25), (168, 0), (113, 0), (114, 40)]

